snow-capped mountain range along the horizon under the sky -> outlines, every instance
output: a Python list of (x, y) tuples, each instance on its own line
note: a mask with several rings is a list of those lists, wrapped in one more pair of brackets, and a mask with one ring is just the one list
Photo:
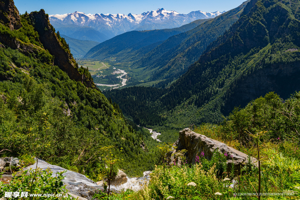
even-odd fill
[(49, 15), (49, 20), (55, 28), (64, 25), (93, 28), (109, 38), (132, 30), (150, 30), (176, 28), (197, 19), (214, 18), (223, 12), (193, 11), (188, 14), (179, 14), (176, 11), (167, 11), (164, 8), (152, 10), (142, 14), (85, 14), (74, 12), (68, 14)]

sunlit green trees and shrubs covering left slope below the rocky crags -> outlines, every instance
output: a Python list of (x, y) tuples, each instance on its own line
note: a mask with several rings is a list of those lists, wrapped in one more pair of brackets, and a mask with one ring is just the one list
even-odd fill
[[(18, 50), (1, 48), (0, 56), (1, 78), (5, 80), (0, 82), (0, 95), (5, 97), (5, 101), (0, 98), (1, 150), (9, 149), (8, 153), (16, 157), (33, 155), (33, 146), (41, 146), (46, 138), (42, 159), (85, 171), (85, 175), (96, 179), (101, 155), (98, 149), (114, 145), (124, 148), (125, 161), (118, 167), (128, 175), (153, 169), (155, 148), (150, 147), (155, 145), (149, 132), (126, 122), (119, 107), (110, 104), (100, 91), (86, 88), (53, 66), (49, 52), (26, 56)], [(82, 73), (90, 76), (87, 70), (82, 69)], [(43, 113), (49, 115), (47, 133), (42, 126)], [(140, 148), (143, 135), (147, 145), (150, 141), (149, 152)], [(32, 141), (31, 137), (34, 145), (23, 142)]]

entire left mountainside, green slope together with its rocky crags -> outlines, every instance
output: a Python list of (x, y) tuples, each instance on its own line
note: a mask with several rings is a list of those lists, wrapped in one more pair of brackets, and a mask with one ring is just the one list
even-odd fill
[(38, 156), (98, 181), (101, 148), (110, 145), (117, 155), (123, 148), (119, 167), (128, 174), (151, 170), (149, 131), (126, 121), (95, 88), (44, 10), (19, 16), (13, 1), (0, 5), (0, 151)]

